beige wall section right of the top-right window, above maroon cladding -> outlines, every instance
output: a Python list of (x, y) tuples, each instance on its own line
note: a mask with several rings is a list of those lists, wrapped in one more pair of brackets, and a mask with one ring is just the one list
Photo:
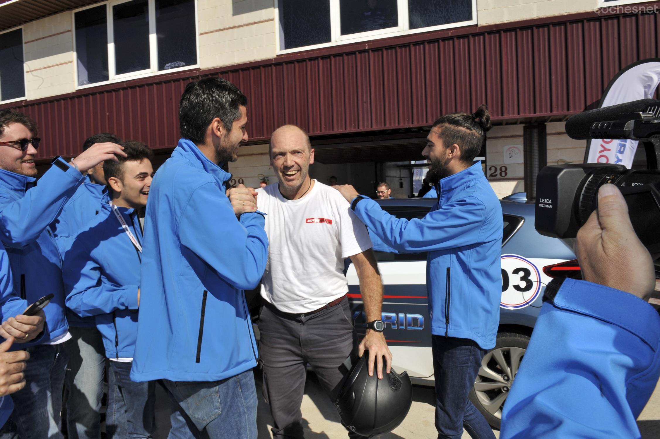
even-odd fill
[(477, 0), (480, 25), (593, 11), (598, 0)]

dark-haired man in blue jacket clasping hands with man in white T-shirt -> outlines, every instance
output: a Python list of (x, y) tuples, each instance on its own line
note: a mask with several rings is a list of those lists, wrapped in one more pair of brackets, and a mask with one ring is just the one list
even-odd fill
[(231, 174), (220, 166), (248, 140), (247, 104), (224, 79), (187, 84), (182, 139), (149, 193), (131, 379), (163, 380), (180, 407), (170, 437), (189, 436), (186, 423), (211, 439), (257, 437), (257, 345), (244, 290), (261, 279), (268, 240), (255, 201), (230, 203)]

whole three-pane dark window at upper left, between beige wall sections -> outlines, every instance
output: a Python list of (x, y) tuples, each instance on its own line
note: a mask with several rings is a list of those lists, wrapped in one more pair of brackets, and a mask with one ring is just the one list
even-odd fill
[(78, 85), (197, 65), (195, 0), (129, 0), (74, 13)]

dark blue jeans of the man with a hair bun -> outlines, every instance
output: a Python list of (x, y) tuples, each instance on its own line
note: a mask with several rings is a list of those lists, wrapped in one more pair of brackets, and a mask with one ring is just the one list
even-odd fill
[(438, 439), (460, 439), (463, 428), (473, 439), (494, 439), (486, 419), (467, 399), (486, 351), (470, 339), (432, 335), (431, 341)]

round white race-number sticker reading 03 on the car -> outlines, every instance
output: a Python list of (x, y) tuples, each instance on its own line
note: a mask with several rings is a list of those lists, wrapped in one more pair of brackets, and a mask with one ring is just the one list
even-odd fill
[[(545, 275), (544, 275), (545, 277)], [(509, 310), (532, 304), (545, 284), (537, 266), (519, 255), (502, 255), (502, 301)]]

